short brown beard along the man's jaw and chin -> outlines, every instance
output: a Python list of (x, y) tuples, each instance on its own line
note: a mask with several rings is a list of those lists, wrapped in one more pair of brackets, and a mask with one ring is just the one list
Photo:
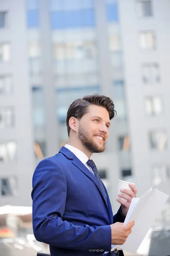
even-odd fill
[[(98, 136), (100, 135), (98, 134)], [(81, 125), (78, 129), (78, 139), (81, 141), (81, 144), (91, 153), (102, 153), (105, 150), (105, 143), (101, 147), (98, 146), (92, 140), (92, 137), (90, 137), (88, 131), (86, 131)]]

